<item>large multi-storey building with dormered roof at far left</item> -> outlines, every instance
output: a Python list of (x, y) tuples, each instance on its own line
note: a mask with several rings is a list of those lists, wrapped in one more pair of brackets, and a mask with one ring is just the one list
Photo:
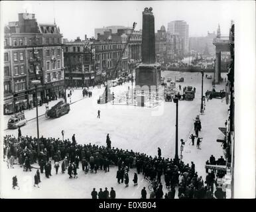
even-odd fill
[(32, 79), (40, 79), (38, 99), (60, 97), (64, 93), (62, 34), (56, 24), (44, 25), (35, 15), (20, 13), (19, 21), (5, 26), (4, 113), (27, 109), (34, 103)]

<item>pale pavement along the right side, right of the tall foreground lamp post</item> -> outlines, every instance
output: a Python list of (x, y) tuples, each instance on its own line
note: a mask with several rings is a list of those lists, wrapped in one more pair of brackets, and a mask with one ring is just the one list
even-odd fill
[[(222, 87), (224, 87), (224, 83), (221, 85), (216, 85), (217, 90), (222, 89)], [(224, 134), (218, 129), (218, 127), (225, 127), (224, 123), (227, 119), (227, 109), (228, 105), (225, 103), (225, 98), (206, 101), (206, 110), (204, 111), (204, 115), (200, 115), (202, 129), (199, 131), (198, 136), (203, 138), (200, 149), (196, 148), (197, 138), (195, 138), (194, 146), (190, 144), (190, 138), (187, 137), (184, 139), (186, 143), (184, 145), (184, 151), (182, 152), (182, 160), (186, 164), (190, 164), (190, 166), (191, 162), (194, 162), (198, 176), (202, 176), (204, 180), (206, 179), (206, 170), (204, 168), (206, 160), (209, 160), (211, 155), (214, 155), (216, 160), (218, 160), (220, 156), (224, 157), (224, 152), (221, 146), (222, 143), (216, 142), (216, 140), (220, 136), (224, 137)], [(196, 117), (196, 114), (194, 117)], [(195, 135), (194, 125), (191, 126), (188, 136), (190, 134)], [(178, 148), (180, 151), (180, 146)]]

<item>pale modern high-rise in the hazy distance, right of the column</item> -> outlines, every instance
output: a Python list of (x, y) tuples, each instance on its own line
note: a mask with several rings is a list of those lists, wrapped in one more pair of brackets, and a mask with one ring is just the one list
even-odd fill
[(182, 38), (182, 54), (186, 56), (188, 54), (188, 36), (189, 26), (186, 21), (171, 21), (168, 23), (168, 32), (170, 34), (178, 34)]

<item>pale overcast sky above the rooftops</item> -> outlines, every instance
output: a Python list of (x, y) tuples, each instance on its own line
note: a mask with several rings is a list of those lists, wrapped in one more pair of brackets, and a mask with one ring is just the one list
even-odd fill
[(110, 25), (142, 27), (142, 11), (153, 7), (155, 31), (170, 21), (184, 20), (189, 36), (206, 36), (216, 31), (229, 33), (231, 19), (241, 11), (241, 1), (2, 1), (3, 23), (18, 21), (18, 13), (35, 13), (38, 23), (60, 26), (64, 38), (94, 36), (94, 28)]

